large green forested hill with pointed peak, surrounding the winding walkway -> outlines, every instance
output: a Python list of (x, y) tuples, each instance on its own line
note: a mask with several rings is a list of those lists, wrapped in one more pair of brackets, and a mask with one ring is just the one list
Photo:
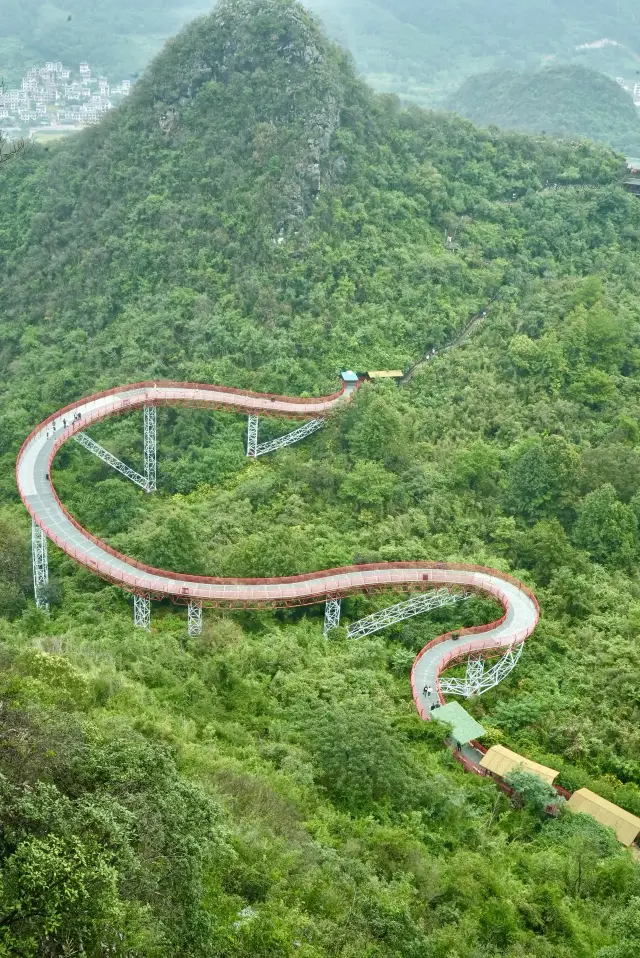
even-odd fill
[[(13, 478), (33, 425), (82, 393), (318, 393), (486, 311), (276, 457), (246, 465), (239, 417), (165, 409), (156, 496), (80, 448), (56, 486), (95, 533), (185, 572), (515, 572), (543, 617), (470, 705), (487, 741), (640, 814), (640, 205), (621, 177), (596, 145), (375, 96), (288, 0), (228, 0), (100, 128), (2, 168), (5, 954), (633, 954), (640, 876), (612, 834), (512, 809), (415, 714), (415, 653), (490, 603), (358, 643), (323, 640), (319, 609), (211, 612), (188, 639), (157, 607), (147, 634), (51, 548), (47, 618)], [(134, 416), (94, 434), (140, 461)]]

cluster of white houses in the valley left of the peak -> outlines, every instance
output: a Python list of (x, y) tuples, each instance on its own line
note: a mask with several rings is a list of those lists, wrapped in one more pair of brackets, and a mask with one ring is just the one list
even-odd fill
[(8, 139), (71, 133), (99, 123), (130, 92), (130, 80), (110, 86), (88, 63), (73, 71), (49, 61), (27, 70), (19, 87), (0, 91), (0, 130)]

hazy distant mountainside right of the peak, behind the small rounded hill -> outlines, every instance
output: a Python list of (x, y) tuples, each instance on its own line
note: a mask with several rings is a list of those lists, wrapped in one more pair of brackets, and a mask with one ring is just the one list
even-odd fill
[[(635, 0), (312, 0), (378, 88), (439, 103), (474, 73), (535, 69), (545, 57), (640, 70)], [(619, 46), (576, 50), (608, 38)]]

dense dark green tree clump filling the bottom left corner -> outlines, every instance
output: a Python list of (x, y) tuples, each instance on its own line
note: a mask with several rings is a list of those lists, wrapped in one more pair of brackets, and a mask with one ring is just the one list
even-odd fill
[(87, 721), (67, 659), (5, 648), (2, 685), (0, 953), (209, 953), (205, 875), (229, 854), (211, 798), (128, 723)]

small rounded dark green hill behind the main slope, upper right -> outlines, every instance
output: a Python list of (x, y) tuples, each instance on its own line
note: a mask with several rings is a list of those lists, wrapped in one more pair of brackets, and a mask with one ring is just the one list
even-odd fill
[(627, 154), (640, 150), (640, 115), (631, 97), (584, 67), (475, 76), (446, 105), (481, 126), (589, 137)]

